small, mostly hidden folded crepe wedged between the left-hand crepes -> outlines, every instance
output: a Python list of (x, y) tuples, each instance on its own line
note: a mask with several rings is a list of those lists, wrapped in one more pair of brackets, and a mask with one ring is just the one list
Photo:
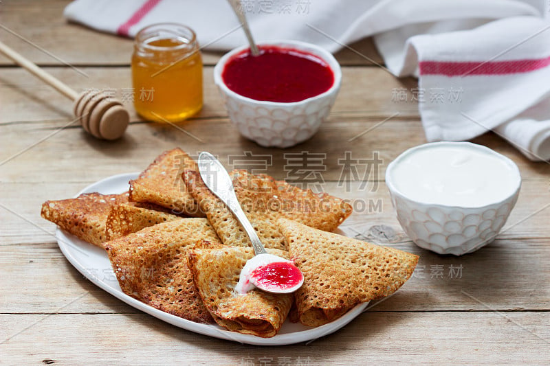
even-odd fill
[(111, 207), (109, 216), (107, 216), (106, 241), (179, 218), (179, 216), (170, 214), (170, 211), (164, 207), (148, 203), (121, 203)]

